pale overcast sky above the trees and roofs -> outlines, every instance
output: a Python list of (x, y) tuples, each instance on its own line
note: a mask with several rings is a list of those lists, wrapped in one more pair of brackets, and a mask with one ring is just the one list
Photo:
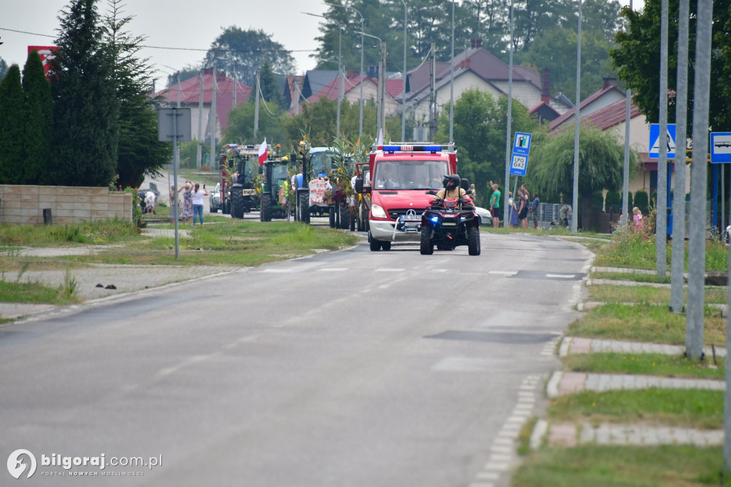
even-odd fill
[[(630, 0), (620, 0), (629, 4)], [(305, 15), (322, 15), (327, 10), (322, 0), (122, 0), (125, 16), (134, 19), (127, 30), (144, 36), (146, 46), (138, 53), (149, 58), (156, 72), (156, 88), (162, 89), (167, 75), (189, 65), (198, 65), (222, 29), (262, 29), (272, 39), (292, 50), (298, 74), (314, 69), (317, 62), (309, 57), (317, 48), (322, 19)], [(642, 0), (635, 0), (639, 6)], [(69, 0), (4, 0), (0, 15), (0, 58), (10, 66), (23, 64), (29, 45), (53, 45), (58, 35), (58, 13)], [(98, 3), (106, 12), (107, 0)], [(18, 32), (22, 31), (22, 32)]]

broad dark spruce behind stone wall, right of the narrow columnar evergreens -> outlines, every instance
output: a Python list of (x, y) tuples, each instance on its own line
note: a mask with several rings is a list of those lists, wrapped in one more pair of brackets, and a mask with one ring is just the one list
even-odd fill
[(107, 186), (117, 165), (119, 104), (96, 0), (72, 0), (58, 20), (61, 34), (51, 65), (53, 183)]

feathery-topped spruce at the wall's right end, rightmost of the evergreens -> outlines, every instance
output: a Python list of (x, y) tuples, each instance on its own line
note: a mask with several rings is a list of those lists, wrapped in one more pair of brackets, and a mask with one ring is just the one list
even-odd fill
[(146, 175), (155, 175), (172, 154), (170, 143), (157, 140), (157, 113), (147, 79), (150, 67), (137, 58), (144, 37), (133, 37), (125, 26), (132, 17), (121, 11), (121, 0), (107, 0), (103, 19), (105, 44), (113, 58), (113, 86), (119, 102), (118, 184), (138, 187)]

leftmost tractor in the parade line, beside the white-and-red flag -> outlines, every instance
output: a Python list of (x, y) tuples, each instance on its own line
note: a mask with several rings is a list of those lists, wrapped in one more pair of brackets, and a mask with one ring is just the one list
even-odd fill
[[(235, 179), (232, 181), (229, 194), (224, 192), (230, 199), (231, 216), (243, 218), (243, 215), (254, 211), (259, 206), (259, 191), (257, 190), (257, 178), (260, 175), (259, 146), (227, 146), (228, 167), (234, 170)], [(226, 178), (222, 178), (226, 179)], [(221, 181), (225, 185), (226, 181)]]

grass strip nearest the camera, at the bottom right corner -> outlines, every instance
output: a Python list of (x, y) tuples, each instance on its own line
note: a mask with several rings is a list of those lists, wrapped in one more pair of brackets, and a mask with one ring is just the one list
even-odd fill
[(518, 467), (512, 486), (731, 486), (722, 464), (720, 447), (543, 448)]

